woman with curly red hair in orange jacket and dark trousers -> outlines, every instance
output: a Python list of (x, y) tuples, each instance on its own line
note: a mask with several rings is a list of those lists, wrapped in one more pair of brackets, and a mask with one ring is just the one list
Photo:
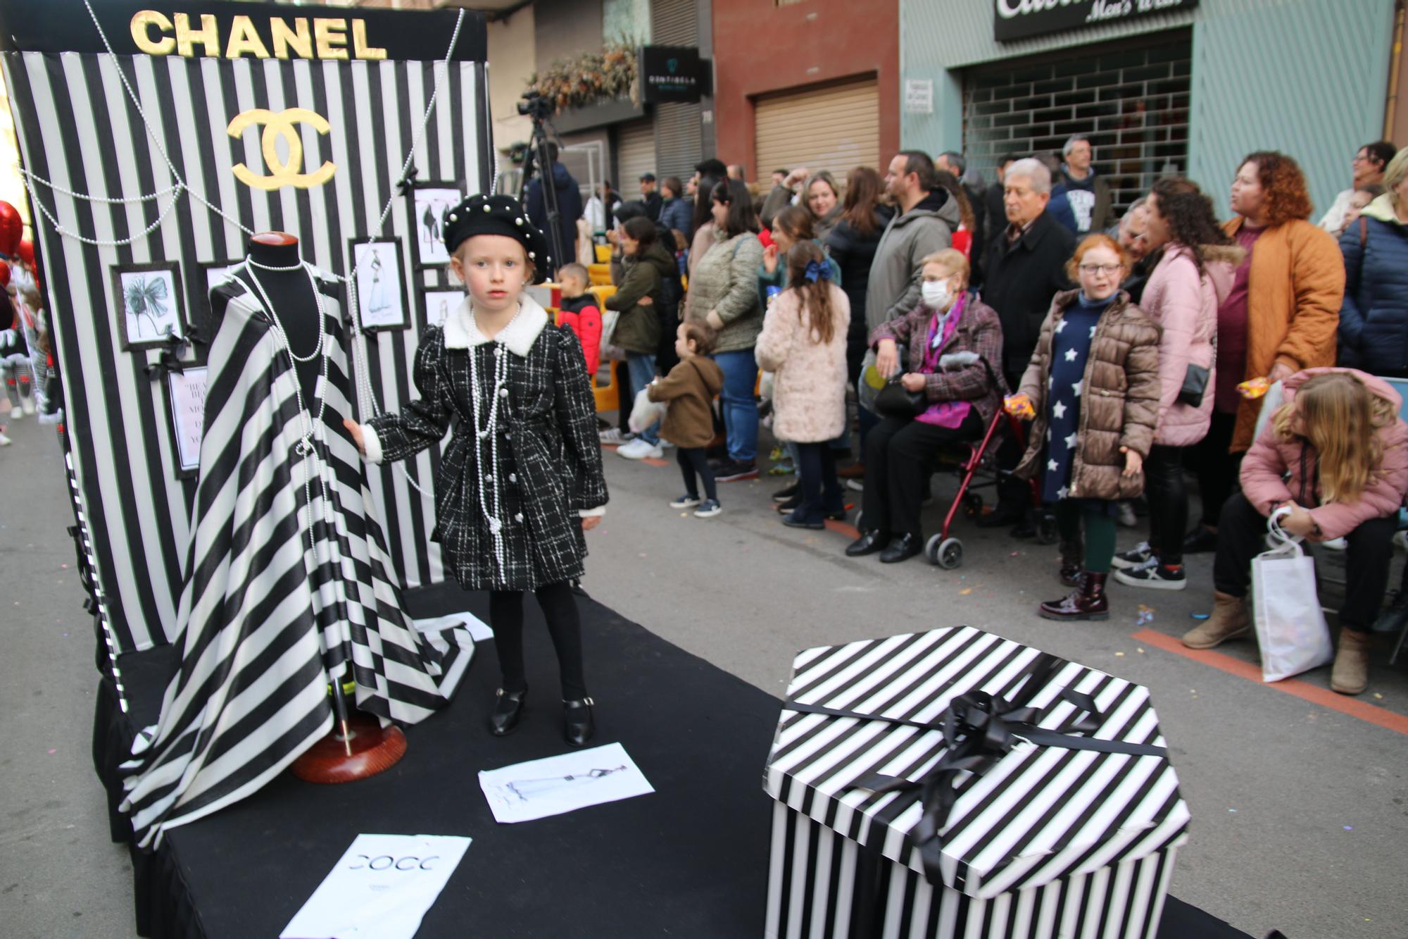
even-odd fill
[(1184, 541), (1186, 554), (1217, 546), (1218, 512), (1252, 446), (1262, 402), (1242, 399), (1238, 383), (1252, 378), (1274, 383), (1333, 365), (1345, 296), (1339, 245), (1307, 221), (1311, 199), (1294, 159), (1274, 151), (1249, 154), (1232, 180), (1232, 211), (1236, 216), (1222, 230), (1247, 254), (1218, 306), (1212, 426), (1195, 464), (1202, 524)]

